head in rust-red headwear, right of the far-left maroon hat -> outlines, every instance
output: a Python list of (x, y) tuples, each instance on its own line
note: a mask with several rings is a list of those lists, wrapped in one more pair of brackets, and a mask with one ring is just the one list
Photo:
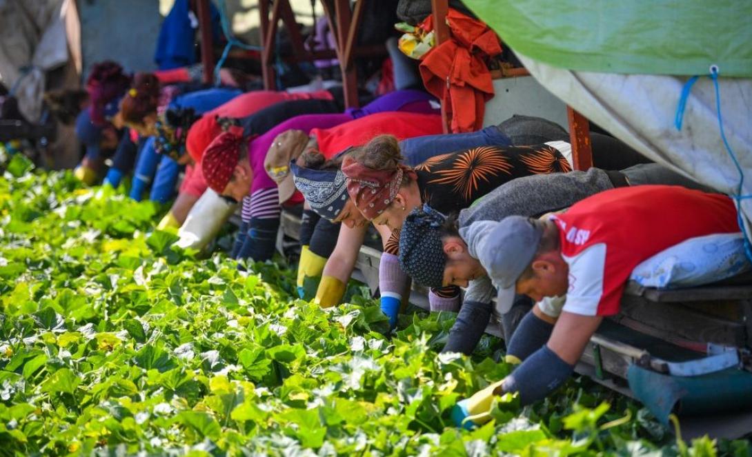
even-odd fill
[(120, 118), (139, 135), (154, 136), (158, 105), (159, 80), (151, 73), (138, 73), (120, 101)]

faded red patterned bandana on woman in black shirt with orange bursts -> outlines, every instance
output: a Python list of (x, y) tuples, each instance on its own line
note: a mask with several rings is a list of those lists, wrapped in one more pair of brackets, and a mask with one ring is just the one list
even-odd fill
[(384, 213), (399, 192), (405, 174), (412, 179), (417, 177), (412, 168), (402, 164), (393, 170), (374, 170), (353, 161), (343, 164), (342, 172), (347, 177), (347, 193), (368, 220)]

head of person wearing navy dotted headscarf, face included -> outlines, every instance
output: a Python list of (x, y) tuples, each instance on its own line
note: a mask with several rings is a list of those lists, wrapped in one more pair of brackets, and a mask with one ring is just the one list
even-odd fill
[(484, 276), (457, 231), (456, 216), (445, 217), (428, 205), (405, 218), (399, 235), (399, 263), (423, 286), (462, 286)]

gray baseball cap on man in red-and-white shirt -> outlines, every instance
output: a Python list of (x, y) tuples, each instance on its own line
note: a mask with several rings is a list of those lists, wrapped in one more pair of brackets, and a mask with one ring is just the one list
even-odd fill
[(514, 303), (515, 283), (535, 258), (543, 228), (538, 219), (508, 216), (501, 222), (478, 221), (459, 229), (470, 255), (481, 262), (496, 286), (500, 313)]

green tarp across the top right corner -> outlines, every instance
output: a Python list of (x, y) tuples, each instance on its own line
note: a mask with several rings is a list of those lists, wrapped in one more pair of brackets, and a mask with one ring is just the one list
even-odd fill
[(464, 0), (517, 52), (554, 67), (752, 77), (750, 0)]

